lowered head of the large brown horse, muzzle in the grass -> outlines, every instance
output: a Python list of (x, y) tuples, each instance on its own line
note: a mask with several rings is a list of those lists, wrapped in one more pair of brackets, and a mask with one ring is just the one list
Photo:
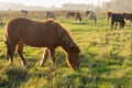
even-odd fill
[(78, 46), (70, 46), (69, 53), (67, 55), (67, 64), (69, 67), (74, 68), (75, 70), (79, 69), (79, 53), (80, 50)]

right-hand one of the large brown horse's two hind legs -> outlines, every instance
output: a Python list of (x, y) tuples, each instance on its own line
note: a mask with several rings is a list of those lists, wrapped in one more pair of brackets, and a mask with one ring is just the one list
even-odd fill
[(22, 66), (26, 66), (28, 62), (25, 61), (25, 58), (23, 56), (23, 43), (19, 43), (19, 45), (18, 45), (18, 54), (19, 54), (19, 56), (21, 58)]

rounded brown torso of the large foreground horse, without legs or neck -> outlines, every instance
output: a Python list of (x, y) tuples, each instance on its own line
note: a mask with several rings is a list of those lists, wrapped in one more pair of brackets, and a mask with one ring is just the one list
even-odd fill
[(53, 22), (36, 22), (25, 18), (13, 19), (8, 23), (6, 34), (13, 43), (22, 41), (31, 46), (46, 46), (58, 40), (57, 31), (52, 26)]

